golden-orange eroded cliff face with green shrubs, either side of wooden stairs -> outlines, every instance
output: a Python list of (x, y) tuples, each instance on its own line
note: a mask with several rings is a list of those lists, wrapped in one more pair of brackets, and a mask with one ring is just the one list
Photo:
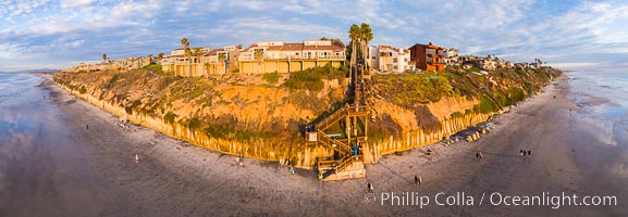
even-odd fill
[[(366, 81), (372, 111), (365, 159), (375, 162), (484, 122), (558, 74), (504, 69), (485, 77), (457, 71), (373, 76)], [(140, 69), (59, 73), (54, 81), (96, 106), (196, 145), (311, 167), (333, 151), (307, 144), (304, 126), (342, 106), (346, 91), (343, 77), (320, 78), (182, 78)]]

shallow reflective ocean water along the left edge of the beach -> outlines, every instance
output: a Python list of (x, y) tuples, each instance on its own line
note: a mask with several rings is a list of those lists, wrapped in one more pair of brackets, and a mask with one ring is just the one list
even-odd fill
[[(53, 170), (49, 159), (62, 150), (59, 145), (67, 143), (64, 115), (49, 92), (38, 87), (42, 80), (29, 74), (0, 73), (0, 192), (23, 180), (48, 178)], [(45, 161), (36, 163), (35, 158)], [(0, 193), (0, 209), (4, 196)]]

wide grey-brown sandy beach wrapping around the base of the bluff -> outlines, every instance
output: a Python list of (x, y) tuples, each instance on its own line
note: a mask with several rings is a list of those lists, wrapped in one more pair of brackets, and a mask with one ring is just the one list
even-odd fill
[[(50, 80), (42, 88), (64, 113), (62, 145), (13, 159), (0, 188), (0, 216), (626, 216), (628, 155), (607, 144), (577, 113), (563, 77), (543, 93), (493, 119), (476, 142), (432, 144), (367, 165), (367, 178), (319, 182), (312, 170), (291, 175), (279, 163), (244, 159), (190, 145), (77, 100)], [(554, 95), (556, 98), (554, 99)], [(572, 110), (570, 113), (569, 110)], [(87, 129), (86, 125), (89, 125)], [(427, 149), (432, 151), (428, 155)], [(519, 156), (519, 150), (532, 156)], [(15, 150), (16, 152), (19, 150)], [(483, 158), (476, 158), (482, 151)], [(41, 152), (41, 151), (38, 151)], [(135, 161), (135, 155), (139, 161)], [(39, 165), (39, 166), (33, 166)], [(26, 171), (26, 173), (24, 173)], [(32, 174), (27, 176), (25, 174)], [(421, 176), (420, 187), (414, 177)], [(367, 182), (375, 203), (365, 202)], [(8, 187), (7, 187), (8, 186)], [(427, 206), (381, 205), (382, 192), (417, 192)], [(464, 192), (473, 205), (436, 205)], [(617, 206), (493, 206), (489, 194), (615, 195)], [(482, 194), (487, 194), (479, 205)], [(441, 197), (444, 199), (444, 197)]]

